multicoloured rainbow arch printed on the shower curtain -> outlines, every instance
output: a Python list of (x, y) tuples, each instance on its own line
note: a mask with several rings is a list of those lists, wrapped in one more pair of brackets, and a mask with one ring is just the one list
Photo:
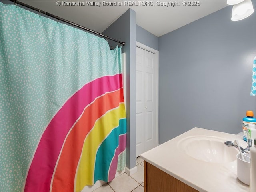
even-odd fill
[(81, 191), (97, 180), (111, 181), (125, 146), (122, 76), (98, 78), (78, 90), (52, 118), (34, 154), (24, 191)]

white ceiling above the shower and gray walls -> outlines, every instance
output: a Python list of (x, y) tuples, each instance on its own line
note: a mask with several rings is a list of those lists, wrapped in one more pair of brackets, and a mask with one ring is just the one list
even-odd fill
[[(198, 6), (188, 6), (189, 1), (183, 6), (180, 0), (154, 0), (151, 2), (152, 6), (137, 6), (140, 3), (145, 4), (146, 1), (105, 1), (122, 3), (123, 6), (104, 6), (103, 1), (92, 0), (60, 0), (60, 6), (56, 5), (56, 0), (22, 0), (22, 2), (100, 33), (126, 10), (132, 8), (136, 12), (136, 24), (158, 37), (228, 6), (226, 0), (200, 0)], [(65, 5), (69, 2), (80, 3), (80, 6)], [(89, 2), (95, 5), (87, 5)], [(128, 6), (124, 5), (124, 2), (136, 5)], [(168, 7), (162, 6), (164, 2), (172, 2), (172, 4)], [(100, 3), (100, 6), (96, 6), (96, 3)]]

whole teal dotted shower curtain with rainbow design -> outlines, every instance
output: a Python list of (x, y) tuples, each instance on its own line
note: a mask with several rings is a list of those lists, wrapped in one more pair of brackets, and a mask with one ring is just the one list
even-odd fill
[(1, 6), (1, 191), (81, 191), (125, 166), (121, 48)]

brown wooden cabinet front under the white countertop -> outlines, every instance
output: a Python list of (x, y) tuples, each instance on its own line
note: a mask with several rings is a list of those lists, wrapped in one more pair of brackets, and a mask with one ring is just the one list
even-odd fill
[(144, 161), (144, 192), (198, 192), (198, 190)]

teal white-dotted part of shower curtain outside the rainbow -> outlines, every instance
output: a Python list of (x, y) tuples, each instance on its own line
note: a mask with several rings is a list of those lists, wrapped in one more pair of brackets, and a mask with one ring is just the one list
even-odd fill
[[(70, 96), (121, 73), (120, 48), (15, 5), (1, 6), (1, 191), (21, 191), (39, 138)], [(124, 168), (125, 153), (120, 155)]]

